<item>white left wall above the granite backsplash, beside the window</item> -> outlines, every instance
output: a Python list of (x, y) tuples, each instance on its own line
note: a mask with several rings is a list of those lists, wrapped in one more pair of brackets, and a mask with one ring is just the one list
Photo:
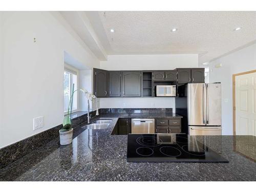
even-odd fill
[[(84, 66), (99, 67), (59, 13), (1, 16), (0, 148), (62, 123), (64, 52)], [(33, 131), (38, 116), (44, 116), (45, 126)]]

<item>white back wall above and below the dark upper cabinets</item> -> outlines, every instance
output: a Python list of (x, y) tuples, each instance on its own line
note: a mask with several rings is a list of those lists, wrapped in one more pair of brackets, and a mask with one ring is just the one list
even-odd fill
[[(100, 68), (105, 70), (172, 70), (185, 67), (198, 67), (198, 55), (109, 55), (107, 61), (100, 61)], [(175, 112), (175, 98), (100, 98), (100, 108), (173, 108)]]

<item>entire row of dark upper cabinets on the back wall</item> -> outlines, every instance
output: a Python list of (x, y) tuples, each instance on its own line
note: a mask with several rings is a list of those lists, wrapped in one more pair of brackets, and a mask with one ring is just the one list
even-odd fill
[(157, 84), (204, 82), (204, 68), (166, 71), (106, 71), (94, 68), (93, 74), (93, 93), (96, 97), (154, 97)]

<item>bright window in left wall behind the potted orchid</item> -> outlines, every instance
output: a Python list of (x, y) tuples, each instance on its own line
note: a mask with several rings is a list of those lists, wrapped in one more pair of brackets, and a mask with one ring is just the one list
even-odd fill
[[(72, 87), (74, 83), (74, 91), (77, 90), (77, 76), (78, 71), (71, 66), (65, 65), (65, 70), (63, 74), (63, 87), (64, 87), (64, 113), (68, 113), (69, 109), (69, 100), (72, 95)], [(77, 99), (78, 94), (77, 92), (74, 93), (73, 96), (73, 106), (72, 106), (72, 112), (77, 111)]]

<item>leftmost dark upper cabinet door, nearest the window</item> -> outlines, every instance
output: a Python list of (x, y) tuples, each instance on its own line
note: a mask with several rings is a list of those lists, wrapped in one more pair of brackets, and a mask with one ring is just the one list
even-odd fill
[(108, 97), (108, 71), (94, 69), (93, 83), (96, 97)]

